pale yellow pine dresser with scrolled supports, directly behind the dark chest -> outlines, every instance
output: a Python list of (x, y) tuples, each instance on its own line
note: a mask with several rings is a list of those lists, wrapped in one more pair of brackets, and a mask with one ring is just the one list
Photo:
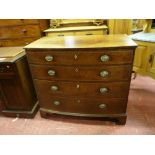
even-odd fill
[(104, 35), (108, 34), (107, 22), (102, 19), (51, 19), (46, 36)]

